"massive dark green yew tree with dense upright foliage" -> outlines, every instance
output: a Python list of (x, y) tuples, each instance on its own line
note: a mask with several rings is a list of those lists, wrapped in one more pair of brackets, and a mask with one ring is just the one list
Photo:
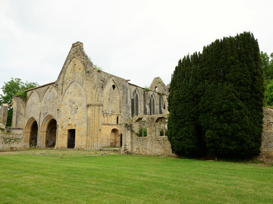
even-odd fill
[(180, 59), (168, 97), (168, 139), (174, 153), (197, 156), (207, 150), (241, 159), (259, 154), (260, 63), (259, 45), (250, 32), (216, 40), (202, 54)]

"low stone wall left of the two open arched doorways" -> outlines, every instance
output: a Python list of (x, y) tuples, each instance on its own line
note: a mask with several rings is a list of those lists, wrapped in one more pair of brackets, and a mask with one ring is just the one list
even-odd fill
[(22, 134), (2, 134), (0, 133), (0, 151), (12, 151), (23, 149)]

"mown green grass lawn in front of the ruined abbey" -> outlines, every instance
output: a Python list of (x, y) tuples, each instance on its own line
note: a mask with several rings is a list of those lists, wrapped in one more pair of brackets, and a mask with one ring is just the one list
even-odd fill
[(102, 151), (0, 152), (0, 203), (273, 203), (273, 167)]

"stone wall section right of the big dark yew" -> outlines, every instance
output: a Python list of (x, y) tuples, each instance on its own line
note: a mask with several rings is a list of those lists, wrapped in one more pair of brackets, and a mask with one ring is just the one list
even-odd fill
[(257, 161), (273, 163), (273, 110), (263, 109), (263, 133), (261, 153), (255, 158)]

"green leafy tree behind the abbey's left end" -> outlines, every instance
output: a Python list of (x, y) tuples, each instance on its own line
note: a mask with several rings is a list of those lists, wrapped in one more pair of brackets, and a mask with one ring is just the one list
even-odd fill
[[(38, 86), (38, 83), (28, 81), (22, 82), (19, 78), (11, 78), (10, 81), (4, 82), (4, 84), (5, 85), (1, 88), (3, 94), (0, 94), (0, 104), (11, 104), (13, 96), (21, 97), (26, 100), (27, 94), (24, 91)], [(8, 109), (7, 126), (11, 126), (12, 112), (12, 107), (10, 107)]]

